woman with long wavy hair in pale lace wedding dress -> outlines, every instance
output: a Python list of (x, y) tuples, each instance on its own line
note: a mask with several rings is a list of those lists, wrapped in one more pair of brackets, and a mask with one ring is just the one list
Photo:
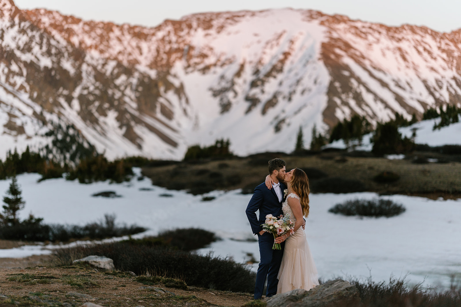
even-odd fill
[[(295, 220), (294, 234), (286, 233), (275, 239), (276, 243), (286, 241), (282, 264), (278, 271), (277, 293), (295, 289), (310, 290), (319, 284), (306, 233), (302, 229), (303, 216), (309, 215), (309, 179), (300, 168), (294, 168), (285, 175), (288, 184), (287, 197), (282, 204), (284, 216)], [(266, 177), (266, 185), (272, 188), (272, 179)]]

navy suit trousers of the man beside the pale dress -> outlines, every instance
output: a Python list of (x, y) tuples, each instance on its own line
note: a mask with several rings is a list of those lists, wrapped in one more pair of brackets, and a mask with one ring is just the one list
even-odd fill
[(281, 243), (282, 249), (272, 249), (274, 236), (272, 233), (265, 232), (262, 236), (258, 234), (258, 244), (260, 248), (260, 264), (256, 273), (256, 284), (254, 285), (254, 299), (260, 299), (267, 277), (266, 296), (270, 297), (277, 293), (278, 270), (284, 255), (285, 242)]

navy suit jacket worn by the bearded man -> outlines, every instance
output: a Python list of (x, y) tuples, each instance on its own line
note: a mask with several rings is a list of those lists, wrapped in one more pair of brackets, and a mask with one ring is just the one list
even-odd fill
[[(254, 234), (262, 230), (261, 225), (265, 223), (267, 214), (272, 214), (273, 216), (283, 214), (282, 202), (284, 201), (286, 186), (280, 182), (280, 188), (282, 192), (281, 202), (278, 201), (274, 189), (269, 190), (264, 182), (254, 188), (253, 197), (251, 197), (246, 210), (248, 221)], [(256, 211), (258, 210), (259, 219), (256, 217)]]

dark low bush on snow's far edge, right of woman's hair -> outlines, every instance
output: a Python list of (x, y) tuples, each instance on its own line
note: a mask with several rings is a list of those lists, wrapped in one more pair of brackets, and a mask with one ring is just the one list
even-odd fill
[(311, 183), (313, 193), (352, 193), (365, 190), (365, 185), (359, 180), (338, 177), (314, 180)]

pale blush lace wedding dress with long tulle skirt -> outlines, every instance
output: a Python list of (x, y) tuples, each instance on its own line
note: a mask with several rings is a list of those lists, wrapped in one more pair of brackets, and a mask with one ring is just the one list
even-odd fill
[[(295, 193), (288, 194), (282, 204), (284, 216), (290, 215), (291, 220), (296, 220), (288, 205), (288, 198), (299, 197)], [(302, 227), (285, 240), (284, 255), (280, 271), (278, 271), (277, 293), (284, 293), (295, 289), (310, 290), (319, 284), (317, 268), (312, 258), (306, 232)]]

